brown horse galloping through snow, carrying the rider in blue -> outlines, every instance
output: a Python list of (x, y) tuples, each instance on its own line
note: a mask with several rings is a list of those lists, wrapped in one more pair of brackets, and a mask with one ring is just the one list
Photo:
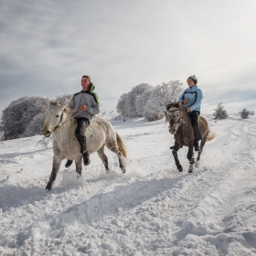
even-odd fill
[[(182, 148), (184, 145), (188, 146), (187, 159), (189, 160), (189, 169), (188, 173), (193, 172), (193, 165), (195, 164), (194, 158), (194, 130), (191, 124), (191, 119), (187, 114), (186, 109), (182, 106), (180, 102), (173, 102), (166, 106), (167, 117), (169, 121), (169, 132), (175, 135), (175, 145), (172, 151), (177, 169), (182, 172), (183, 167), (180, 165), (177, 158), (177, 151)], [(199, 166), (200, 155), (203, 152), (203, 147), (206, 142), (211, 141), (215, 138), (215, 133), (209, 134), (208, 122), (202, 116), (199, 118), (199, 131), (202, 136), (200, 143), (200, 149), (197, 155), (196, 167)]]

